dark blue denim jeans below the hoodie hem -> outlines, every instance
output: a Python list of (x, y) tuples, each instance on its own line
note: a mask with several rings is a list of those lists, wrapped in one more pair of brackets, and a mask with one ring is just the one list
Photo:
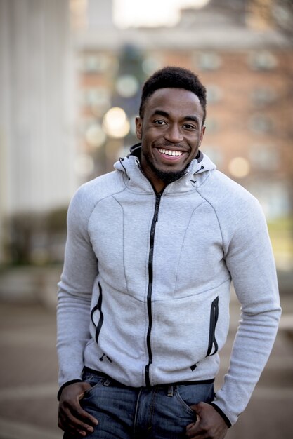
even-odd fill
[[(214, 400), (214, 384), (127, 387), (99, 374), (84, 372), (91, 384), (81, 405), (99, 421), (91, 439), (179, 439), (195, 421), (190, 405)], [(63, 439), (80, 439), (65, 434)]]

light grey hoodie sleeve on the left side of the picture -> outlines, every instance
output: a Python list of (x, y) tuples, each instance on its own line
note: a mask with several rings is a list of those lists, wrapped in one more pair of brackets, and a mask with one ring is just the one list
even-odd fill
[(67, 214), (65, 262), (58, 283), (57, 351), (61, 387), (82, 379), (84, 347), (90, 339), (90, 306), (98, 262), (87, 224), (93, 203), (89, 191), (79, 188)]

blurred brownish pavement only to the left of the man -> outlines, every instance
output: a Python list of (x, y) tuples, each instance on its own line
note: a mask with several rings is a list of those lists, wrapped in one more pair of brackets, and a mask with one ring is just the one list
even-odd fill
[(60, 439), (56, 316), (40, 304), (0, 304), (0, 438)]

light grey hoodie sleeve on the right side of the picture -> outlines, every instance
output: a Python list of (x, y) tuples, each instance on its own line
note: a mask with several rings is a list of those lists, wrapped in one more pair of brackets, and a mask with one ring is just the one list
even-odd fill
[(223, 226), (224, 258), (241, 304), (241, 320), (230, 367), (213, 404), (235, 424), (271, 353), (280, 300), (271, 242), (258, 201), (250, 196), (225, 224), (233, 224), (232, 233)]

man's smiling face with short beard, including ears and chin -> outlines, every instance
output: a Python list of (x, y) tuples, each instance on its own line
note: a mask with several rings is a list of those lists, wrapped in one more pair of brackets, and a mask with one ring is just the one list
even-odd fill
[(136, 118), (136, 135), (142, 140), (141, 168), (161, 191), (165, 184), (183, 177), (197, 156), (205, 126), (204, 110), (193, 92), (160, 88)]

